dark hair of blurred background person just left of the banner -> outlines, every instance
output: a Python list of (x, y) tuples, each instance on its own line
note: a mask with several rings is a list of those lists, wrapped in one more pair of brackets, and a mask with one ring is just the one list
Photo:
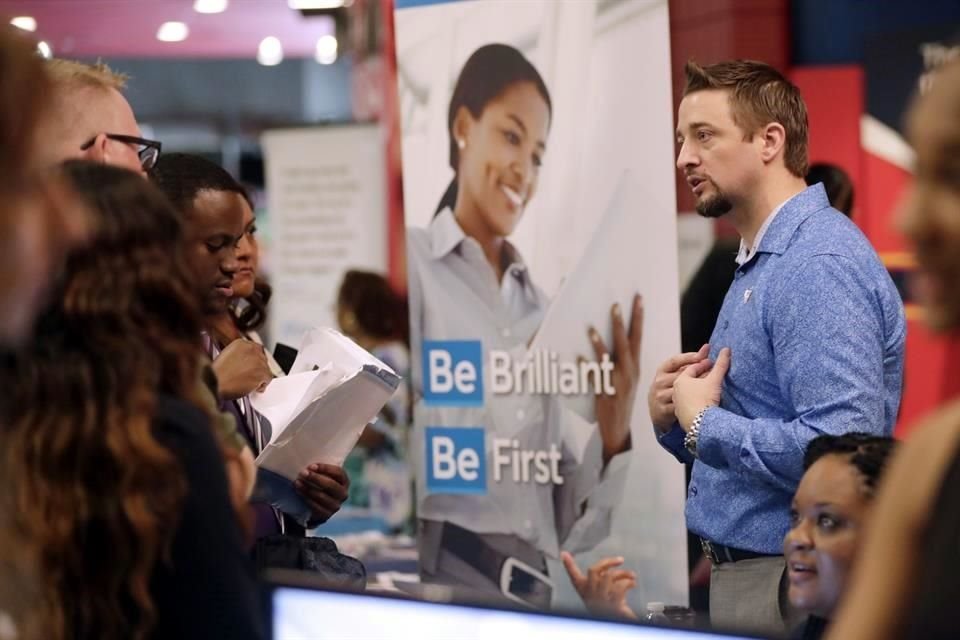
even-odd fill
[(380, 340), (409, 340), (407, 299), (378, 273), (350, 270), (343, 276), (337, 305), (352, 314), (356, 328)]

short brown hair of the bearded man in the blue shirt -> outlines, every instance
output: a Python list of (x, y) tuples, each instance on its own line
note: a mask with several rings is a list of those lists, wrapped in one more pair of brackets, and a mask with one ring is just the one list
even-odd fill
[(684, 96), (708, 89), (730, 92), (733, 121), (748, 140), (764, 125), (781, 124), (786, 132), (784, 165), (797, 177), (807, 174), (807, 106), (800, 90), (779, 71), (753, 60), (730, 60), (705, 67), (690, 60), (684, 72)]

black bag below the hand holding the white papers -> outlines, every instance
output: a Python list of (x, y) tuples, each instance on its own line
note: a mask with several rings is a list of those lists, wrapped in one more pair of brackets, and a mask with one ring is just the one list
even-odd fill
[(363, 591), (367, 569), (352, 556), (340, 553), (330, 538), (271, 535), (257, 540), (253, 560), (259, 573), (266, 569), (309, 571), (333, 587)]

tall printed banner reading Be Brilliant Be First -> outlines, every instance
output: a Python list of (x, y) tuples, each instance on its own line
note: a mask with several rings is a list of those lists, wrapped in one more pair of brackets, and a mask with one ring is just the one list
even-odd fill
[(577, 607), (567, 550), (685, 605), (666, 0), (397, 0), (396, 41), (421, 580)]

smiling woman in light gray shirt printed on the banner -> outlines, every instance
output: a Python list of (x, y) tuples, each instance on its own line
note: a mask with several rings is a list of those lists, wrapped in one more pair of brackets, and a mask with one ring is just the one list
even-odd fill
[[(549, 393), (549, 356), (528, 354), (549, 301), (507, 240), (536, 192), (552, 110), (519, 51), (477, 49), (450, 100), (454, 178), (430, 225), (408, 237), (421, 577), (538, 607), (553, 592), (547, 558), (609, 535), (643, 318), (639, 296), (633, 309), (613, 307), (612, 364), (599, 333), (584, 327), (608, 376), (590, 388), (597, 424), (564, 409)], [(513, 363), (511, 389), (492, 379), (492, 356)], [(584, 364), (599, 370), (561, 366)], [(583, 392), (589, 379), (566, 382)]]

